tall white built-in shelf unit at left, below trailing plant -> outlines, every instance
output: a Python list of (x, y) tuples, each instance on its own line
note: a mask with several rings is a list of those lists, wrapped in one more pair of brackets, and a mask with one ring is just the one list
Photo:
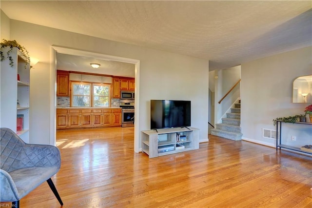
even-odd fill
[[(1, 49), (5, 55), (9, 50), (10, 47)], [(13, 47), (9, 53), (12, 62), (10, 63), (8, 58), (1, 61), (0, 127), (10, 128), (24, 142), (29, 143), (30, 63), (16, 47)], [(17, 129), (18, 115), (23, 115), (22, 130), (19, 131)]]

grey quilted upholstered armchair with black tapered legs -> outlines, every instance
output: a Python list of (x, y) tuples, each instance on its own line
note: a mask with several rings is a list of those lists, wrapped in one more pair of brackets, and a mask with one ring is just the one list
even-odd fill
[(8, 128), (1, 128), (0, 140), (0, 201), (19, 207), (20, 199), (47, 181), (63, 205), (51, 177), (60, 168), (60, 154), (56, 146), (31, 145)]

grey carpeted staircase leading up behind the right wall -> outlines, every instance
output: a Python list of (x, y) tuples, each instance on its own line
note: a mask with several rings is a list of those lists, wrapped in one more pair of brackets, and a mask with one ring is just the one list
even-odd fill
[(222, 124), (216, 124), (214, 129), (211, 129), (211, 134), (231, 140), (241, 140), (243, 134), (240, 128), (240, 100), (238, 104), (234, 104), (231, 108), (231, 113), (226, 114), (226, 118), (222, 119)]

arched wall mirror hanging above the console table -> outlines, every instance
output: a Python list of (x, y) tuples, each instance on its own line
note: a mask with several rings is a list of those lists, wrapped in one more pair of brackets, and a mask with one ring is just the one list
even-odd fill
[(312, 103), (312, 75), (298, 77), (293, 81), (292, 103)]

